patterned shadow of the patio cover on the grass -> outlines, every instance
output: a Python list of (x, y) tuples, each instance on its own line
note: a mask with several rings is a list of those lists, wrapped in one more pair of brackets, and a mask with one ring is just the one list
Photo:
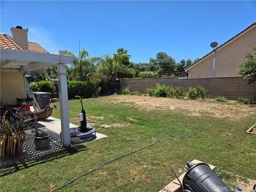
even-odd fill
[(12, 164), (8, 164), (6, 166), (1, 166), (0, 176), (3, 177), (5, 175), (9, 175), (11, 173), (14, 173), (23, 169), (27, 169), (28, 167), (35, 166), (38, 164), (43, 164), (45, 162), (53, 161), (54, 159), (59, 159), (68, 155), (73, 155), (84, 150), (86, 150), (86, 147), (84, 145), (75, 145), (75, 146), (66, 147), (59, 151), (51, 152), (39, 157), (26, 159), (26, 161), (15, 162)]

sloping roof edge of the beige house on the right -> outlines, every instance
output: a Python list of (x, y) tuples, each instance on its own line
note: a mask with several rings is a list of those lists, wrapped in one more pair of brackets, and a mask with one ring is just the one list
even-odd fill
[(256, 27), (256, 22), (252, 23), (252, 25), (246, 27), (244, 30), (242, 30), (240, 33), (236, 34), (234, 37), (231, 37), (230, 39), (228, 39), (228, 41), (226, 41), (225, 43), (222, 43), (220, 46), (218, 46), (215, 50), (212, 50), (211, 52), (207, 53), (206, 55), (204, 55), (202, 58), (200, 58), (199, 60), (197, 60), (195, 63), (193, 63), (192, 65), (188, 66), (185, 68), (185, 71), (187, 72), (189, 69), (195, 67), (196, 65), (198, 65), (198, 63), (200, 63), (201, 61), (205, 60), (206, 58), (210, 57), (214, 52), (219, 51), (220, 49), (222, 49), (223, 47), (225, 47), (226, 45), (228, 45), (229, 43), (233, 42), (235, 39), (237, 39), (238, 37), (240, 37), (241, 35), (243, 35), (244, 33), (246, 33), (247, 31), (253, 29), (254, 27)]

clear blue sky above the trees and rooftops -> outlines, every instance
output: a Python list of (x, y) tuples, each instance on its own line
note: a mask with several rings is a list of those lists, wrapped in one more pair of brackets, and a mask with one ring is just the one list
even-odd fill
[(127, 49), (133, 62), (163, 51), (176, 61), (202, 57), (256, 20), (256, 1), (1, 1), (1, 33), (17, 25), (50, 53), (89, 56)]

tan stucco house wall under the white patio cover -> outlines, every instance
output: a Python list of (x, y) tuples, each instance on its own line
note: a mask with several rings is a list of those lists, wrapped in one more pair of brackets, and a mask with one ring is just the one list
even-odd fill
[(16, 104), (16, 98), (25, 98), (25, 79), (23, 73), (1, 71), (1, 101)]

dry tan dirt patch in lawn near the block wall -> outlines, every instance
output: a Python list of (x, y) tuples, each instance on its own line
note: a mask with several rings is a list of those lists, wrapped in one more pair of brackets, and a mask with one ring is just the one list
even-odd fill
[(127, 105), (135, 105), (145, 110), (175, 110), (189, 111), (191, 116), (202, 116), (203, 114), (214, 117), (228, 117), (237, 121), (248, 115), (256, 114), (256, 107), (235, 103), (217, 103), (213, 101), (197, 101), (174, 98), (155, 98), (137, 95), (113, 95), (110, 97), (112, 103), (128, 102)]

